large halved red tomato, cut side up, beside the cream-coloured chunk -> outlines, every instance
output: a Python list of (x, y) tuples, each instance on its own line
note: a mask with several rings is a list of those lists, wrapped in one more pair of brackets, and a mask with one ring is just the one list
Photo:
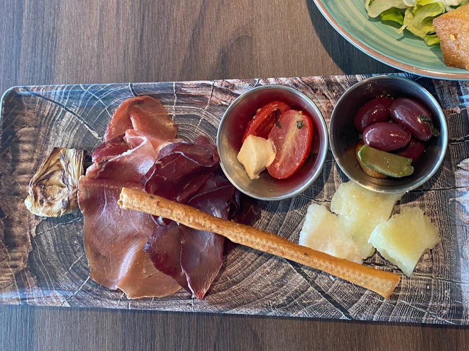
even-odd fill
[(312, 138), (313, 125), (308, 116), (297, 110), (283, 113), (269, 133), (277, 150), (274, 162), (267, 167), (269, 174), (284, 179), (298, 171), (311, 149)]

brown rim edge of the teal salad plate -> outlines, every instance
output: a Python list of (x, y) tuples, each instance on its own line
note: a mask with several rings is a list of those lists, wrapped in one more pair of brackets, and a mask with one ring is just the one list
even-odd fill
[(329, 24), (343, 37), (345, 38), (348, 42), (350, 42), (353, 46), (355, 46), (357, 49), (361, 50), (364, 52), (366, 55), (372, 57), (373, 59), (377, 59), (380, 62), (383, 62), (384, 64), (387, 64), (388, 66), (400, 69), (405, 72), (417, 74), (423, 77), (428, 77), (428, 78), (437, 78), (437, 79), (449, 79), (449, 80), (469, 80), (469, 71), (468, 74), (462, 74), (462, 73), (443, 73), (443, 72), (438, 72), (438, 71), (433, 71), (433, 70), (427, 70), (424, 68), (419, 68), (415, 67), (412, 65), (408, 65), (405, 63), (402, 63), (398, 60), (395, 59), (390, 59), (382, 54), (380, 54), (378, 51), (372, 49), (370, 46), (368, 46), (365, 43), (362, 43), (360, 40), (356, 39), (354, 36), (352, 36), (349, 32), (347, 32), (334, 18), (331, 16), (331, 14), (327, 11), (326, 7), (323, 4), (322, 0), (314, 0), (314, 3), (316, 7), (318, 7), (320, 13), (324, 18), (329, 22)]

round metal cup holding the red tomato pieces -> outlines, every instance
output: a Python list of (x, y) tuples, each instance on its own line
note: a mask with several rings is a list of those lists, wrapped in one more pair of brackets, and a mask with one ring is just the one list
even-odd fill
[[(300, 169), (286, 179), (262, 172), (259, 179), (251, 180), (236, 156), (249, 120), (258, 108), (274, 100), (311, 117), (315, 129), (311, 152)], [(327, 127), (318, 107), (298, 90), (283, 85), (262, 85), (240, 95), (228, 107), (218, 126), (216, 146), (221, 168), (239, 191), (260, 200), (282, 200), (303, 192), (319, 176), (328, 148)]]

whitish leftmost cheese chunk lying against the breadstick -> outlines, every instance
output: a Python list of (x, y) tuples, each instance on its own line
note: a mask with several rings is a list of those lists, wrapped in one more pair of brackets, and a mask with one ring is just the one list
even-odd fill
[(362, 263), (362, 254), (358, 246), (349, 236), (339, 230), (337, 215), (318, 204), (309, 205), (303, 228), (299, 233), (298, 244), (332, 256)]

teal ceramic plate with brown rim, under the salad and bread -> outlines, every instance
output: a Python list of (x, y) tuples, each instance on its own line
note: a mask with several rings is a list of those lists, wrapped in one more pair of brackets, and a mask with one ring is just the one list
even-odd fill
[(469, 71), (445, 65), (439, 45), (429, 47), (411, 33), (398, 34), (396, 26), (369, 18), (363, 0), (314, 2), (345, 39), (371, 57), (421, 76), (469, 80)]

